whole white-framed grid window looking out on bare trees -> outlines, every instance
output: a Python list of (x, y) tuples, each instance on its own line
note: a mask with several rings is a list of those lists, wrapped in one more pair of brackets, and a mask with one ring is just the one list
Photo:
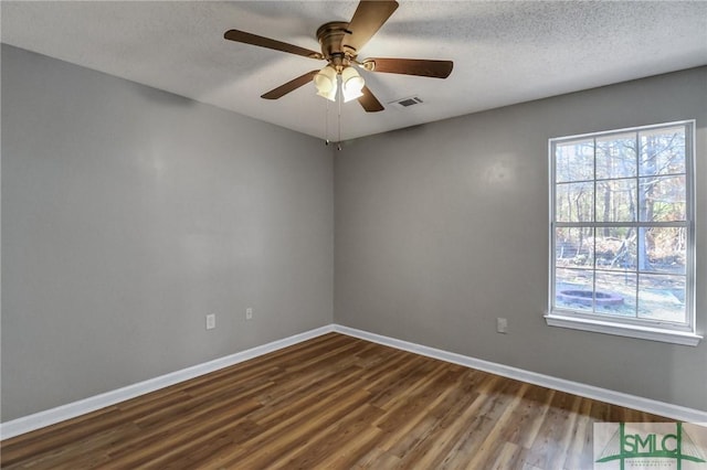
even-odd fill
[(694, 127), (550, 139), (549, 324), (697, 344)]

